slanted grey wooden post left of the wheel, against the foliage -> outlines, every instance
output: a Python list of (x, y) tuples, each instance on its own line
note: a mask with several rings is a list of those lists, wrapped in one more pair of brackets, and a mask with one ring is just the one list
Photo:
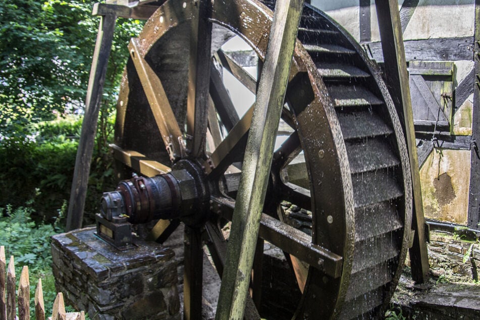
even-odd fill
[(98, 113), (116, 20), (116, 15), (100, 17), (90, 79), (88, 81), (87, 97), (85, 99), (85, 116), (75, 160), (75, 171), (67, 214), (67, 231), (82, 227)]

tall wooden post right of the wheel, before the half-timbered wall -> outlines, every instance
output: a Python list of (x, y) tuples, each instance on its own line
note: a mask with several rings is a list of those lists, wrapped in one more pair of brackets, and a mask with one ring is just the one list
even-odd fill
[(387, 74), (387, 86), (395, 103), (409, 150), (413, 186), (412, 229), (415, 230), (413, 246), (410, 248), (412, 278), (424, 283), (430, 272), (429, 257), (425, 240), (425, 222), (421, 198), (420, 173), (413, 128), (413, 114), (408, 85), (407, 63), (403, 46), (402, 27), (397, 0), (377, 0), (377, 16), (382, 40), (382, 50)]

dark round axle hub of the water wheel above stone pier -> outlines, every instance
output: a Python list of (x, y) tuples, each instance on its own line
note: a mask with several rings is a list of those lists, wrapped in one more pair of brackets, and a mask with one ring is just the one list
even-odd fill
[(113, 221), (125, 217), (133, 224), (156, 219), (181, 219), (186, 225), (204, 223), (208, 214), (209, 188), (195, 161), (181, 160), (172, 171), (147, 178), (136, 174), (121, 181), (116, 191), (101, 198), (101, 216)]

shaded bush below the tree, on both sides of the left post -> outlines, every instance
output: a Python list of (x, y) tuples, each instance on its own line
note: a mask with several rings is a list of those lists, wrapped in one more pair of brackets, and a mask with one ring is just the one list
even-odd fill
[[(105, 132), (97, 134), (85, 217), (98, 210), (101, 193), (112, 189), (114, 181), (108, 142), (113, 134), (113, 116), (105, 120)], [(81, 116), (59, 117), (28, 126), (0, 140), (0, 207), (30, 205), (35, 219), (52, 222), (57, 210), (69, 199)], [(88, 220), (87, 222), (91, 222)]]

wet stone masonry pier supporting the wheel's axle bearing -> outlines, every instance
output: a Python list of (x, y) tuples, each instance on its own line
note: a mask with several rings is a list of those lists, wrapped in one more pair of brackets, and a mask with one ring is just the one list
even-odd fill
[(56, 287), (91, 319), (180, 319), (175, 253), (136, 240), (120, 251), (85, 228), (52, 237)]

